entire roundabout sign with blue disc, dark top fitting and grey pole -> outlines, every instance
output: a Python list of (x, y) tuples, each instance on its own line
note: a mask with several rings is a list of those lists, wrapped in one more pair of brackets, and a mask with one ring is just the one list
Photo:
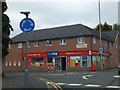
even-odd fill
[(29, 80), (29, 70), (28, 70), (28, 32), (33, 31), (35, 27), (35, 23), (31, 18), (28, 18), (28, 15), (30, 12), (20, 12), (21, 14), (24, 14), (26, 18), (24, 18), (20, 22), (20, 29), (25, 32), (26, 34), (26, 61), (25, 61), (25, 88), (29, 87), (28, 80)]

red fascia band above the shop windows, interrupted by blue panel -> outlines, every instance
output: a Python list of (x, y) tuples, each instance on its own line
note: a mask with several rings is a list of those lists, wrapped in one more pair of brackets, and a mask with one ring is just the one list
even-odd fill
[[(50, 51), (58, 52), (58, 51)], [(109, 57), (111, 54), (110, 52), (105, 52), (104, 56)], [(80, 51), (59, 51), (57, 56), (66, 56), (67, 57), (67, 66), (70, 66), (70, 56), (99, 56), (99, 52), (97, 50), (80, 50)], [(23, 53), (23, 58), (26, 57), (26, 53)], [(31, 57), (43, 57), (44, 58), (44, 64), (46, 65), (47, 60), (47, 52), (29, 52), (28, 53), (28, 59)], [(53, 56), (55, 57), (55, 56)]]

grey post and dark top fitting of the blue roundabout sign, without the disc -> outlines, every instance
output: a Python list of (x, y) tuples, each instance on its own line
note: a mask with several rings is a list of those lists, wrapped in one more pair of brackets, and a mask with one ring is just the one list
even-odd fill
[[(20, 12), (21, 14), (24, 14), (26, 16), (26, 18), (28, 18), (30, 12)], [(25, 61), (25, 88), (28, 87), (28, 32), (26, 33), (26, 61)]]

